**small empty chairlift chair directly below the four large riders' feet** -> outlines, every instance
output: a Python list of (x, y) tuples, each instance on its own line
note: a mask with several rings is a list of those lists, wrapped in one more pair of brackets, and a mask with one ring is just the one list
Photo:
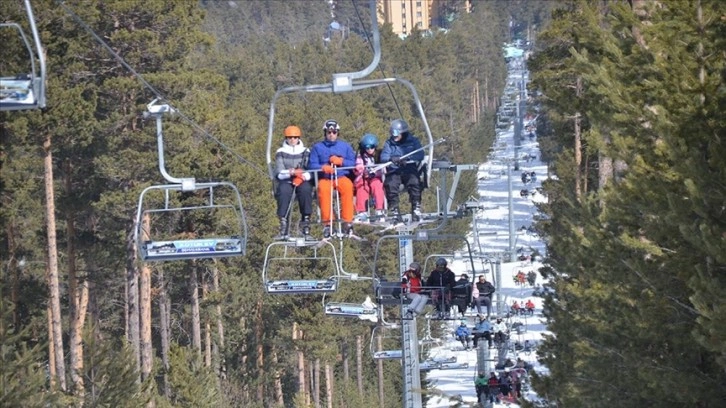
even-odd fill
[[(314, 276), (301, 276), (305, 269)], [(306, 272), (308, 273), (308, 272)], [(265, 251), (262, 282), (268, 294), (324, 294), (338, 290), (340, 266), (328, 241), (273, 242)]]

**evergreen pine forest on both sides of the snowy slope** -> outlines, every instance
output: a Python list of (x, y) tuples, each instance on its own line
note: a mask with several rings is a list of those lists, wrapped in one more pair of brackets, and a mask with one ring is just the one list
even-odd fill
[[(277, 228), (270, 102), (372, 59), (368, 2), (334, 3), (347, 30), (323, 41), (323, 0), (32, 1), (48, 106), (0, 113), (0, 406), (401, 405), (401, 368), (371, 358), (369, 325), (326, 317), (321, 296), (262, 285)], [(474, 0), (467, 13), (463, 0), (442, 3), (445, 31), (401, 39), (380, 27), (371, 77), (416, 87), (432, 134), (447, 139), (437, 159), (480, 163), (507, 85), (502, 45), (530, 40), (528, 106), (551, 176), (536, 225), (548, 244), (540, 274), (553, 289), (539, 350), (549, 372), (535, 375), (535, 391), (558, 407), (721, 406), (726, 4)], [(22, 1), (0, 1), (0, 16), (27, 30)], [(25, 52), (6, 31), (3, 75)], [(165, 182), (144, 115), (154, 99), (177, 109), (163, 119), (169, 173), (239, 189), (245, 256), (140, 260), (139, 196)], [(396, 118), (424, 133), (404, 87), (289, 95), (276, 107), (273, 152), (285, 126), (310, 146), (330, 118), (354, 145), (366, 132), (382, 142)], [(475, 194), (472, 172), (454, 202)], [(424, 209), (435, 206), (426, 190)], [(230, 217), (172, 219), (154, 232), (198, 237)], [(469, 222), (450, 220), (445, 233)], [(384, 244), (374, 265), (376, 234), (360, 233), (369, 239), (345, 241), (342, 267), (397, 276), (397, 245)], [(417, 243), (415, 254), (454, 249)], [(370, 281), (346, 281), (327, 300), (371, 294)]]

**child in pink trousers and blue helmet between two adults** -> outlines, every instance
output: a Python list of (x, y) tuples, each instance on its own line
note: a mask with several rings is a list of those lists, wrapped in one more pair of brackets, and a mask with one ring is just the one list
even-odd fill
[(368, 221), (369, 200), (373, 199), (376, 208), (377, 221), (386, 220), (385, 192), (383, 191), (383, 169), (373, 171), (376, 164), (376, 148), (378, 138), (376, 135), (366, 133), (358, 143), (358, 154), (355, 158), (355, 220), (358, 222)]

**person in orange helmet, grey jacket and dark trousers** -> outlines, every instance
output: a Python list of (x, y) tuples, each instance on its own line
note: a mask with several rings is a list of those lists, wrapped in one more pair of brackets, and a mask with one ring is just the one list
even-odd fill
[(313, 187), (307, 167), (310, 151), (301, 138), (302, 131), (297, 126), (288, 126), (283, 131), (285, 140), (275, 152), (275, 177), (277, 178), (277, 216), (280, 218), (280, 233), (275, 239), (283, 240), (289, 236), (289, 217), (293, 196), (297, 197), (300, 209), (300, 230), (310, 237), (310, 214), (313, 212)]

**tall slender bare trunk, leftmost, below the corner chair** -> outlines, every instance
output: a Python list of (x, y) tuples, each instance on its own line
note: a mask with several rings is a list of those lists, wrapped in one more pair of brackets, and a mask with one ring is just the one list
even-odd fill
[(55, 368), (58, 386), (66, 391), (66, 364), (63, 359), (63, 326), (60, 307), (60, 283), (58, 279), (58, 244), (56, 242), (55, 225), (55, 191), (53, 190), (53, 152), (51, 150), (50, 136), (43, 142), (45, 157), (45, 216), (48, 238), (48, 291), (51, 312), (51, 341), (55, 352)]

